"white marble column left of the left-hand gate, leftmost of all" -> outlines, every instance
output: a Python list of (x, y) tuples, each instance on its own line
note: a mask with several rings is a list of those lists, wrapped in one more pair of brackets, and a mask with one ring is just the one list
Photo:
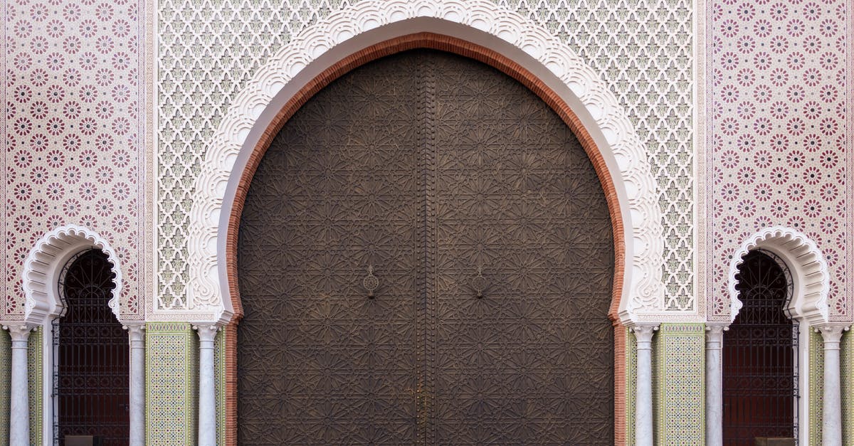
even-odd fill
[(32, 332), (31, 326), (8, 325), (12, 337), (12, 390), (9, 401), (9, 445), (30, 444), (30, 392), (27, 380), (26, 340)]

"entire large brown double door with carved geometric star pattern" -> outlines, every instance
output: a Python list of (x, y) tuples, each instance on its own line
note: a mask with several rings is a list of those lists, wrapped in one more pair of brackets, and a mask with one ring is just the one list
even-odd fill
[(494, 68), (337, 79), (260, 161), (238, 247), (240, 443), (613, 443), (605, 196)]

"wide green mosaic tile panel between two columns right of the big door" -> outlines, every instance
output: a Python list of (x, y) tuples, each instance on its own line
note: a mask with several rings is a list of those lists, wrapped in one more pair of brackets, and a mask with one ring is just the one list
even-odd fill
[(705, 325), (662, 324), (652, 356), (656, 444), (703, 444)]

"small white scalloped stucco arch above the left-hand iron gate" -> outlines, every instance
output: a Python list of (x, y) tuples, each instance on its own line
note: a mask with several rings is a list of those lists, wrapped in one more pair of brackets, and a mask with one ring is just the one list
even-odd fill
[(121, 267), (119, 256), (97, 232), (82, 226), (60, 226), (38, 239), (24, 261), (24, 322), (40, 326), (63, 313), (59, 280), (68, 260), (80, 251), (97, 248), (107, 255), (115, 274), (108, 306), (116, 320), (121, 320)]

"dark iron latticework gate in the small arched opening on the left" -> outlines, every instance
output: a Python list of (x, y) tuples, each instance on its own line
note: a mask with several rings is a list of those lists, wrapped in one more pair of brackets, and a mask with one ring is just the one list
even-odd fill
[(126, 445), (130, 434), (128, 337), (108, 307), (111, 265), (100, 249), (67, 262), (60, 278), (65, 314), (54, 321), (54, 439), (100, 437)]

